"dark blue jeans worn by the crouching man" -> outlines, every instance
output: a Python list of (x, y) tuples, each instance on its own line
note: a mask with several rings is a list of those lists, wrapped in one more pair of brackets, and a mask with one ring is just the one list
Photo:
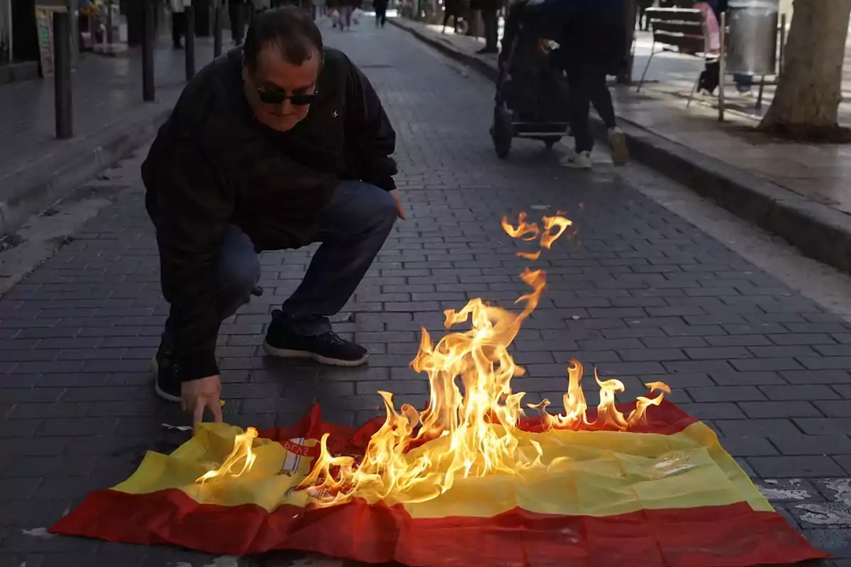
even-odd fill
[[(384, 246), (397, 218), (396, 200), (361, 181), (337, 186), (319, 214), (316, 241), (322, 242), (304, 279), (283, 303), (291, 332), (319, 335), (331, 330), (329, 315), (343, 309)], [(222, 243), (218, 306), (224, 320), (251, 298), (260, 281), (260, 258), (248, 235), (231, 227)]]

